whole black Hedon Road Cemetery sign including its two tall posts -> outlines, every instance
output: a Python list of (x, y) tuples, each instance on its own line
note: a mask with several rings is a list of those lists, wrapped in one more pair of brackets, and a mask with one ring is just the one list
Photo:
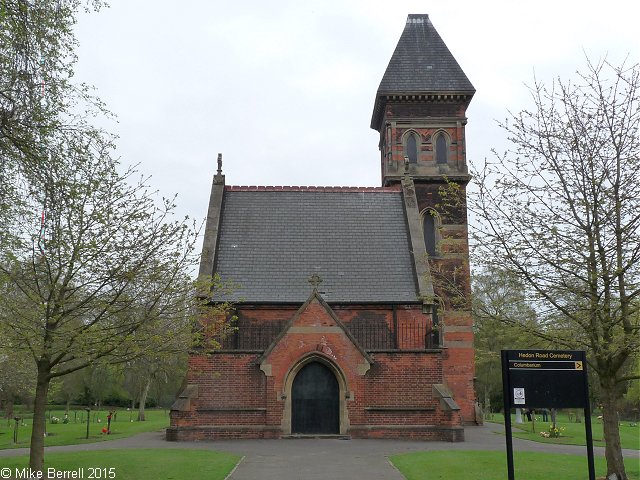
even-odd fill
[(502, 350), (501, 357), (508, 479), (515, 480), (512, 408), (583, 408), (589, 480), (595, 480), (585, 352)]

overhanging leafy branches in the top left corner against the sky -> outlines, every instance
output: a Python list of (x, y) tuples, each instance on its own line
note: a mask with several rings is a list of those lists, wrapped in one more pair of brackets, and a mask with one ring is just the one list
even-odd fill
[[(11, 226), (22, 205), (17, 185), (46, 168), (48, 136), (92, 130), (87, 119), (106, 113), (91, 89), (72, 82), (75, 15), (100, 0), (0, 1), (0, 220)], [(0, 242), (7, 230), (0, 230)]]

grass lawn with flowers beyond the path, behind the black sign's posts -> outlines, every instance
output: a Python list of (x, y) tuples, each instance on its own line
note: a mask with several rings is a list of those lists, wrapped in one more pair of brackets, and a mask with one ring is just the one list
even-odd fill
[[(540, 415), (537, 415), (536, 417), (539, 419), (541, 418)], [(501, 414), (495, 414), (491, 422), (504, 423), (504, 417)], [(586, 444), (584, 421), (582, 423), (575, 423), (575, 421), (569, 420), (567, 414), (559, 414), (557, 418), (557, 425), (560, 428), (564, 428), (564, 431), (561, 432), (561, 436), (559, 438), (544, 438), (540, 435), (540, 432), (549, 430), (549, 425), (551, 425), (551, 422), (536, 420), (534, 432), (532, 422), (516, 424), (515, 415), (511, 416), (511, 426), (514, 437), (542, 443), (560, 443), (568, 445)], [(596, 447), (604, 447), (602, 423), (597, 419), (597, 417), (593, 417), (591, 419), (591, 429), (593, 431), (593, 445)], [(621, 422), (620, 442), (622, 443), (622, 448), (640, 450), (640, 426), (638, 426), (637, 423), (634, 424), (634, 422)]]

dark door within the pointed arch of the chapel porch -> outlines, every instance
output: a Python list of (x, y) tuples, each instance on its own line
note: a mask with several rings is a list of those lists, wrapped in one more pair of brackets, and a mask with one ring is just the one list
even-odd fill
[(340, 387), (323, 363), (307, 363), (293, 380), (291, 433), (340, 433)]

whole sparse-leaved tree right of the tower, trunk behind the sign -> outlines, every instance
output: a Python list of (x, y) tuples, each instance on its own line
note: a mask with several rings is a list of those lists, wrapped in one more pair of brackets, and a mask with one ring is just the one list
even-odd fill
[[(640, 344), (640, 68), (587, 63), (531, 88), (502, 125), (512, 148), (476, 172), (478, 256), (525, 286), (531, 334), (585, 349), (603, 405), (608, 474), (626, 479), (617, 407)], [(515, 324), (517, 319), (504, 319)]]

